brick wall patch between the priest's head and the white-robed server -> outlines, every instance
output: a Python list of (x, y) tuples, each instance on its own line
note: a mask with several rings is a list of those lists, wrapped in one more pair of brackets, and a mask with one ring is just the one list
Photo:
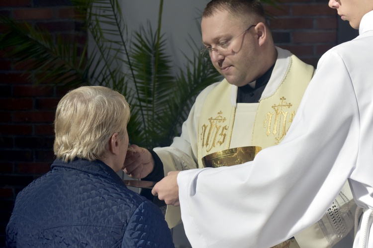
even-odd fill
[(316, 67), (323, 53), (337, 44), (338, 15), (325, 0), (281, 0), (280, 8), (267, 7), (277, 46)]

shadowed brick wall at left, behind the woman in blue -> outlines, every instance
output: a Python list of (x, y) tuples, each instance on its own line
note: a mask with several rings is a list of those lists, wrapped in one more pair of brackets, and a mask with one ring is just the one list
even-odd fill
[[(0, 0), (0, 14), (66, 37), (79, 28), (70, 0)], [(82, 42), (85, 40), (83, 35)], [(16, 194), (50, 169), (54, 113), (68, 90), (33, 85), (24, 75), (24, 66), (15, 66), (2, 54), (0, 51), (0, 247), (5, 244), (5, 226)]]

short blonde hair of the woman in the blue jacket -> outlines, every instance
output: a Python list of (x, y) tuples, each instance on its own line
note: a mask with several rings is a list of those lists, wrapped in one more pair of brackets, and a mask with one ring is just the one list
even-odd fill
[(129, 105), (117, 91), (103, 86), (71, 90), (57, 106), (54, 154), (65, 162), (102, 160), (114, 133), (124, 139), (129, 116)]

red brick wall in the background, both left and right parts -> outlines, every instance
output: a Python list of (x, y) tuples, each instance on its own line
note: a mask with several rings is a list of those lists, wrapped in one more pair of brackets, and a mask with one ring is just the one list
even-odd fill
[[(281, 9), (268, 7), (276, 15), (271, 21), (276, 44), (316, 66), (321, 54), (337, 43), (336, 11), (324, 0), (282, 2)], [(69, 0), (0, 0), (0, 14), (52, 33), (79, 29)], [(0, 246), (16, 194), (53, 161), (54, 111), (67, 91), (34, 86), (23, 72), (22, 66), (0, 56)]]

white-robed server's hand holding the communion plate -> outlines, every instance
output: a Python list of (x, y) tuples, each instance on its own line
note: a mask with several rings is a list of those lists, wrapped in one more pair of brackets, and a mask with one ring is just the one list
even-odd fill
[(152, 189), (153, 195), (158, 195), (167, 205), (180, 206), (178, 174), (180, 171), (170, 171), (166, 177), (157, 182)]

